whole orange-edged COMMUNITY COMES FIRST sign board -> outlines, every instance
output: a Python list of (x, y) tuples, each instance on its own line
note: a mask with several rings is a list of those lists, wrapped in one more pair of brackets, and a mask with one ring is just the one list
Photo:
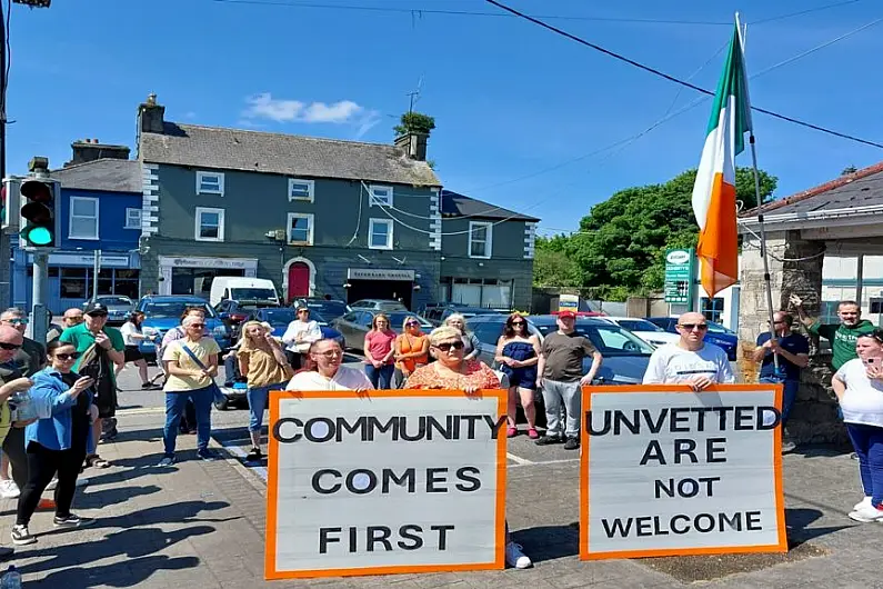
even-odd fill
[(505, 567), (505, 391), (274, 391), (268, 579)]

